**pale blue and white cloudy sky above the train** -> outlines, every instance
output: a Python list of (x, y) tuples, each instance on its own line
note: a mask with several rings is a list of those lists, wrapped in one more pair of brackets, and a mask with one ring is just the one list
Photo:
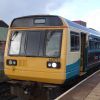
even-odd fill
[(0, 0), (0, 19), (8, 24), (15, 17), (34, 14), (83, 20), (100, 31), (100, 0)]

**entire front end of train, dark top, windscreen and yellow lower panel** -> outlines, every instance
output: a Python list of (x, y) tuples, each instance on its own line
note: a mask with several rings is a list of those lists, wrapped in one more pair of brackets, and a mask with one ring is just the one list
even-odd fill
[(14, 19), (5, 50), (5, 74), (14, 80), (63, 84), (67, 29), (58, 16)]

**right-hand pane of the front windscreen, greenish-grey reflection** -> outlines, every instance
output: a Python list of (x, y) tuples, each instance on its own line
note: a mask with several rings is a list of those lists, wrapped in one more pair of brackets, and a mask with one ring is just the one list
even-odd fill
[(46, 42), (46, 56), (60, 56), (61, 34), (61, 31), (49, 31)]

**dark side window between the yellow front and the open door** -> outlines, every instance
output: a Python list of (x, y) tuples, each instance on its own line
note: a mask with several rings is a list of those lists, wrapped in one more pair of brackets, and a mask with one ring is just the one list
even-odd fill
[(71, 32), (71, 51), (78, 51), (79, 50), (79, 33)]

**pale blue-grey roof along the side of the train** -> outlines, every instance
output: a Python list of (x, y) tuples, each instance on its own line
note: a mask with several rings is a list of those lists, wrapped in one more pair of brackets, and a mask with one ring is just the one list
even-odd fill
[(100, 37), (100, 32), (98, 32), (98, 31), (96, 31), (96, 30), (94, 30), (92, 28), (87, 28), (85, 26), (82, 26), (82, 25), (79, 25), (79, 24), (77, 24), (75, 22), (72, 22), (72, 21), (70, 21), (68, 19), (65, 19), (65, 23), (68, 24), (69, 27), (73, 27), (75, 29), (81, 30), (81, 31), (83, 31), (85, 33), (88, 33), (90, 35), (95, 35), (95, 36), (99, 36)]

